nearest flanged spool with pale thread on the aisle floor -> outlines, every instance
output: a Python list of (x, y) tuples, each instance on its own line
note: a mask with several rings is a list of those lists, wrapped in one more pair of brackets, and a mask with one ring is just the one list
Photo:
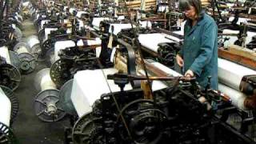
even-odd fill
[(34, 79), (34, 86), (40, 92), (34, 98), (35, 114), (44, 122), (56, 122), (66, 115), (59, 107), (59, 90), (50, 79), (50, 69), (40, 70)]

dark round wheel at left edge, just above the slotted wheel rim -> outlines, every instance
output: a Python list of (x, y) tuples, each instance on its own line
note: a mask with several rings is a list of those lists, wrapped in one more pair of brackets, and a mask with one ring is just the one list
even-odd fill
[(19, 70), (10, 64), (0, 66), (0, 85), (7, 86), (11, 90), (16, 90), (22, 80)]

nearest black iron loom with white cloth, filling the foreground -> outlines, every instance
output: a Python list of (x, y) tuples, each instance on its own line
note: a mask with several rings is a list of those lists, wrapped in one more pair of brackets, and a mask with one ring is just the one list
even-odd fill
[[(128, 63), (126, 65), (130, 71)], [(70, 114), (78, 114), (78, 120), (70, 133), (66, 131), (66, 143), (255, 143), (226, 122), (226, 110), (234, 109), (228, 96), (215, 90), (201, 90), (193, 79), (168, 77), (168, 74), (154, 69), (151, 66), (148, 70), (157, 71), (160, 75), (148, 78), (122, 72), (113, 74), (107, 69), (85, 70), (76, 74), (72, 92), (68, 92), (70, 96), (65, 95), (64, 102), (67, 104), (68, 98), (71, 99)], [(83, 73), (87, 75), (85, 78), (94, 79), (101, 85), (82, 82), (79, 79)], [(153, 93), (146, 93), (150, 88), (132, 89), (129, 86), (132, 81), (147, 79), (150, 82), (170, 81), (170, 86), (151, 90)], [(70, 82), (67, 85), (70, 86)], [(158, 86), (151, 84), (151, 89)], [(89, 85), (90, 90), (82, 88)], [(92, 90), (98, 86), (101, 90), (96, 94)]]

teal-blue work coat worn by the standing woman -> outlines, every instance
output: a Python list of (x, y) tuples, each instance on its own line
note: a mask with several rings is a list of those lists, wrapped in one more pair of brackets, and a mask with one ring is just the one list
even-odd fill
[(218, 90), (218, 26), (210, 15), (202, 17), (192, 26), (187, 20), (184, 27), (184, 45), (178, 54), (184, 60), (184, 70), (192, 70), (200, 86)]

